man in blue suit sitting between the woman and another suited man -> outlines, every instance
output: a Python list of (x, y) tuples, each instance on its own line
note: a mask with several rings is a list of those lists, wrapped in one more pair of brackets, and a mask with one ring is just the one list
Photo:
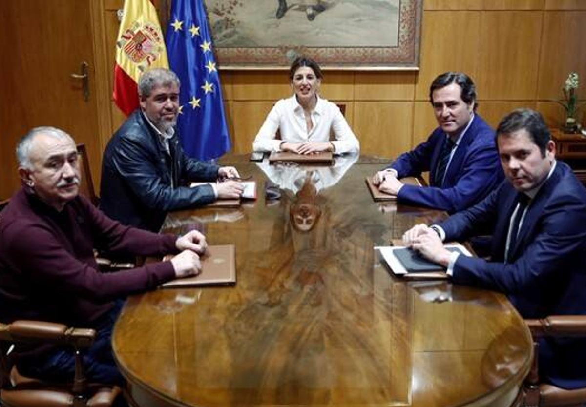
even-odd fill
[[(374, 175), (379, 190), (397, 195), (399, 202), (428, 206), (450, 213), (480, 201), (503, 179), (494, 131), (477, 115), (476, 88), (464, 73), (446, 72), (430, 87), (438, 128), (413, 151), (400, 155)], [(430, 172), (430, 187), (400, 179)]]

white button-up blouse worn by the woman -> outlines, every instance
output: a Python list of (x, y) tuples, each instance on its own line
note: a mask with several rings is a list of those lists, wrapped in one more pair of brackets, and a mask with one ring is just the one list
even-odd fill
[[(336, 140), (332, 141), (336, 154), (357, 152), (360, 149), (358, 139), (347, 124), (340, 108), (336, 104), (318, 97), (318, 102), (311, 112), (314, 124), (307, 132), (305, 114), (297, 97), (281, 99), (272, 107), (258, 134), (254, 138), (253, 151), (281, 151), (282, 142), (329, 142), (333, 131)], [(277, 129), (281, 131), (281, 139), (275, 140)]]

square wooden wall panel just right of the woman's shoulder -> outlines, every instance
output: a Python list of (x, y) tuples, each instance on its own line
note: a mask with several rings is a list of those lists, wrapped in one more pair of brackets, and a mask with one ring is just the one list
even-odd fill
[(354, 102), (362, 154), (395, 157), (411, 148), (412, 129), (413, 102)]

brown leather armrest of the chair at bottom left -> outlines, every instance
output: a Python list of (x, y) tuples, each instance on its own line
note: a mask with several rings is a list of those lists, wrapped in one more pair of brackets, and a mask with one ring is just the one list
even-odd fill
[(81, 349), (90, 347), (95, 337), (93, 329), (69, 328), (52, 322), (18, 320), (0, 325), (0, 338), (8, 341), (50, 341)]

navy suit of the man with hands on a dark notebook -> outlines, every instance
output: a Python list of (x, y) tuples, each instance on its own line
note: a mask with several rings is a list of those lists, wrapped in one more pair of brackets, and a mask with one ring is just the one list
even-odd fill
[[(506, 293), (525, 318), (586, 314), (586, 189), (570, 167), (556, 169), (534, 197), (504, 261), (516, 190), (503, 182), (481, 203), (440, 226), (447, 241), (465, 240), (492, 226), (492, 259), (459, 256), (452, 281)], [(555, 356), (554, 356), (555, 355)], [(544, 340), (542, 378), (565, 388), (586, 387), (586, 340)]]

